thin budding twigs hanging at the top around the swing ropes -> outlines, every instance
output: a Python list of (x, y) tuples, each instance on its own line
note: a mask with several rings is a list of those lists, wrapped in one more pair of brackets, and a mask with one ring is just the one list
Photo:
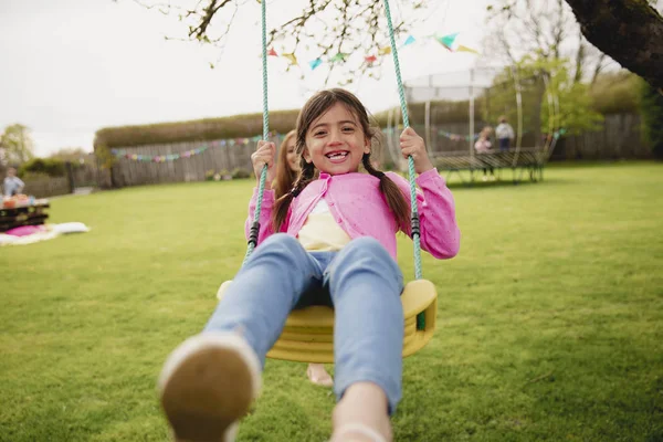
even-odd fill
[[(159, 8), (165, 13), (177, 10), (180, 21), (188, 24), (188, 39), (202, 43), (222, 45), (228, 35), (231, 24), (234, 20), (234, 13), (230, 20), (217, 24), (218, 18), (229, 14), (224, 12), (229, 6), (234, 6), (234, 12), (239, 8), (253, 7), (254, 1), (240, 2), (239, 0), (180, 0), (180, 3), (189, 1), (189, 7), (172, 7), (170, 1), (156, 0), (149, 4), (150, 0), (133, 0), (144, 8)], [(266, 0), (262, 0), (266, 1)], [(285, 1), (283, 2), (285, 3)], [(283, 4), (281, 3), (281, 4)], [(414, 23), (425, 19), (427, 1), (403, 2), (399, 12), (393, 17), (394, 34), (397, 40), (402, 38)], [(407, 11), (406, 11), (407, 10)], [(408, 15), (406, 12), (411, 13)], [(388, 44), (387, 27), (385, 20), (385, 7), (381, 1), (376, 0), (308, 0), (305, 8), (296, 17), (286, 20), (280, 27), (269, 31), (267, 44), (283, 41), (282, 52), (295, 53), (299, 44), (307, 42), (308, 45), (317, 48), (319, 52), (317, 57), (325, 62), (330, 62), (337, 53), (360, 53), (361, 57), (349, 57), (326, 63), (322, 69), (332, 70), (341, 67), (348, 82), (357, 74), (364, 74), (367, 71), (379, 70), (382, 65), (382, 57), (373, 63), (355, 63), (362, 61), (365, 55), (376, 54), (377, 49)], [(222, 31), (221, 33), (219, 33)], [(167, 40), (170, 40), (167, 38)], [(172, 39), (176, 40), (176, 39)], [(187, 40), (187, 39), (182, 39)], [(314, 57), (316, 55), (313, 55)], [(213, 65), (212, 65), (213, 66)], [(290, 71), (295, 65), (287, 67)], [(301, 66), (299, 66), (301, 67)], [(371, 75), (373, 76), (372, 72)]]

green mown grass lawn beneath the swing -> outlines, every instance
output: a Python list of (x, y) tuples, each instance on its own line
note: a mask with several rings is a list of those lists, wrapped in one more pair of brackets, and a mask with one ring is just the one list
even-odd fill
[[(90, 233), (0, 249), (0, 441), (168, 440), (156, 378), (240, 266), (252, 186), (60, 198), (51, 221)], [(440, 326), (406, 359), (396, 439), (663, 440), (663, 165), (453, 192), (461, 253), (424, 256)], [(240, 441), (328, 438), (304, 370), (267, 361)]]

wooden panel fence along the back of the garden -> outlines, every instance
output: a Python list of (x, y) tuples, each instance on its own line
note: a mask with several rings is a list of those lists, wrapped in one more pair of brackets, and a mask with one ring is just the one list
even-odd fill
[[(485, 123), (476, 122), (476, 131)], [(413, 128), (425, 139), (423, 125), (413, 124)], [(435, 156), (444, 152), (470, 151), (469, 123), (452, 123), (431, 127), (430, 150)], [(452, 139), (449, 134), (455, 134), (463, 139)], [(378, 152), (382, 159), (382, 167), (392, 166), (393, 159), (398, 159), (398, 135), (400, 130), (385, 134), (383, 148)], [(523, 134), (522, 146), (534, 147), (540, 144), (540, 136), (534, 133)], [(278, 145), (278, 139), (272, 141)], [(200, 143), (178, 143), (168, 145), (151, 145), (140, 147), (118, 148), (127, 154), (136, 154), (149, 157), (182, 154), (207, 146), (207, 150), (188, 158), (177, 160), (152, 162), (138, 161), (120, 157), (109, 170), (98, 170), (97, 182), (99, 187), (125, 187), (140, 185), (156, 185), (166, 182), (202, 181), (206, 173), (231, 173), (241, 168), (252, 171), (251, 154), (255, 150), (256, 143), (239, 143), (230, 146), (221, 140)], [(651, 150), (640, 139), (640, 117), (633, 114), (614, 114), (606, 116), (602, 129), (586, 133), (578, 136), (565, 136), (557, 143), (552, 152), (552, 160), (565, 159), (614, 159), (614, 158), (651, 158)]]

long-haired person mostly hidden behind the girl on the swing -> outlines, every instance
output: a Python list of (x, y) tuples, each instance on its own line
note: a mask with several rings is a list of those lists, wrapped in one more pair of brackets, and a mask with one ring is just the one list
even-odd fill
[[(295, 179), (297, 179), (297, 172), (299, 171), (299, 157), (296, 151), (296, 137), (297, 131), (291, 130), (283, 138), (281, 147), (278, 148), (278, 160), (276, 161), (276, 175), (272, 182), (272, 189), (274, 189), (274, 198), (277, 200), (285, 193), (290, 192), (293, 188)], [(260, 180), (260, 175), (264, 162), (261, 159), (253, 157), (253, 171), (255, 177)], [(253, 222), (253, 214), (249, 218), (249, 225)], [(306, 376), (316, 386), (322, 387), (334, 387), (334, 380), (325, 370), (325, 366), (322, 364), (309, 364), (306, 368)]]

